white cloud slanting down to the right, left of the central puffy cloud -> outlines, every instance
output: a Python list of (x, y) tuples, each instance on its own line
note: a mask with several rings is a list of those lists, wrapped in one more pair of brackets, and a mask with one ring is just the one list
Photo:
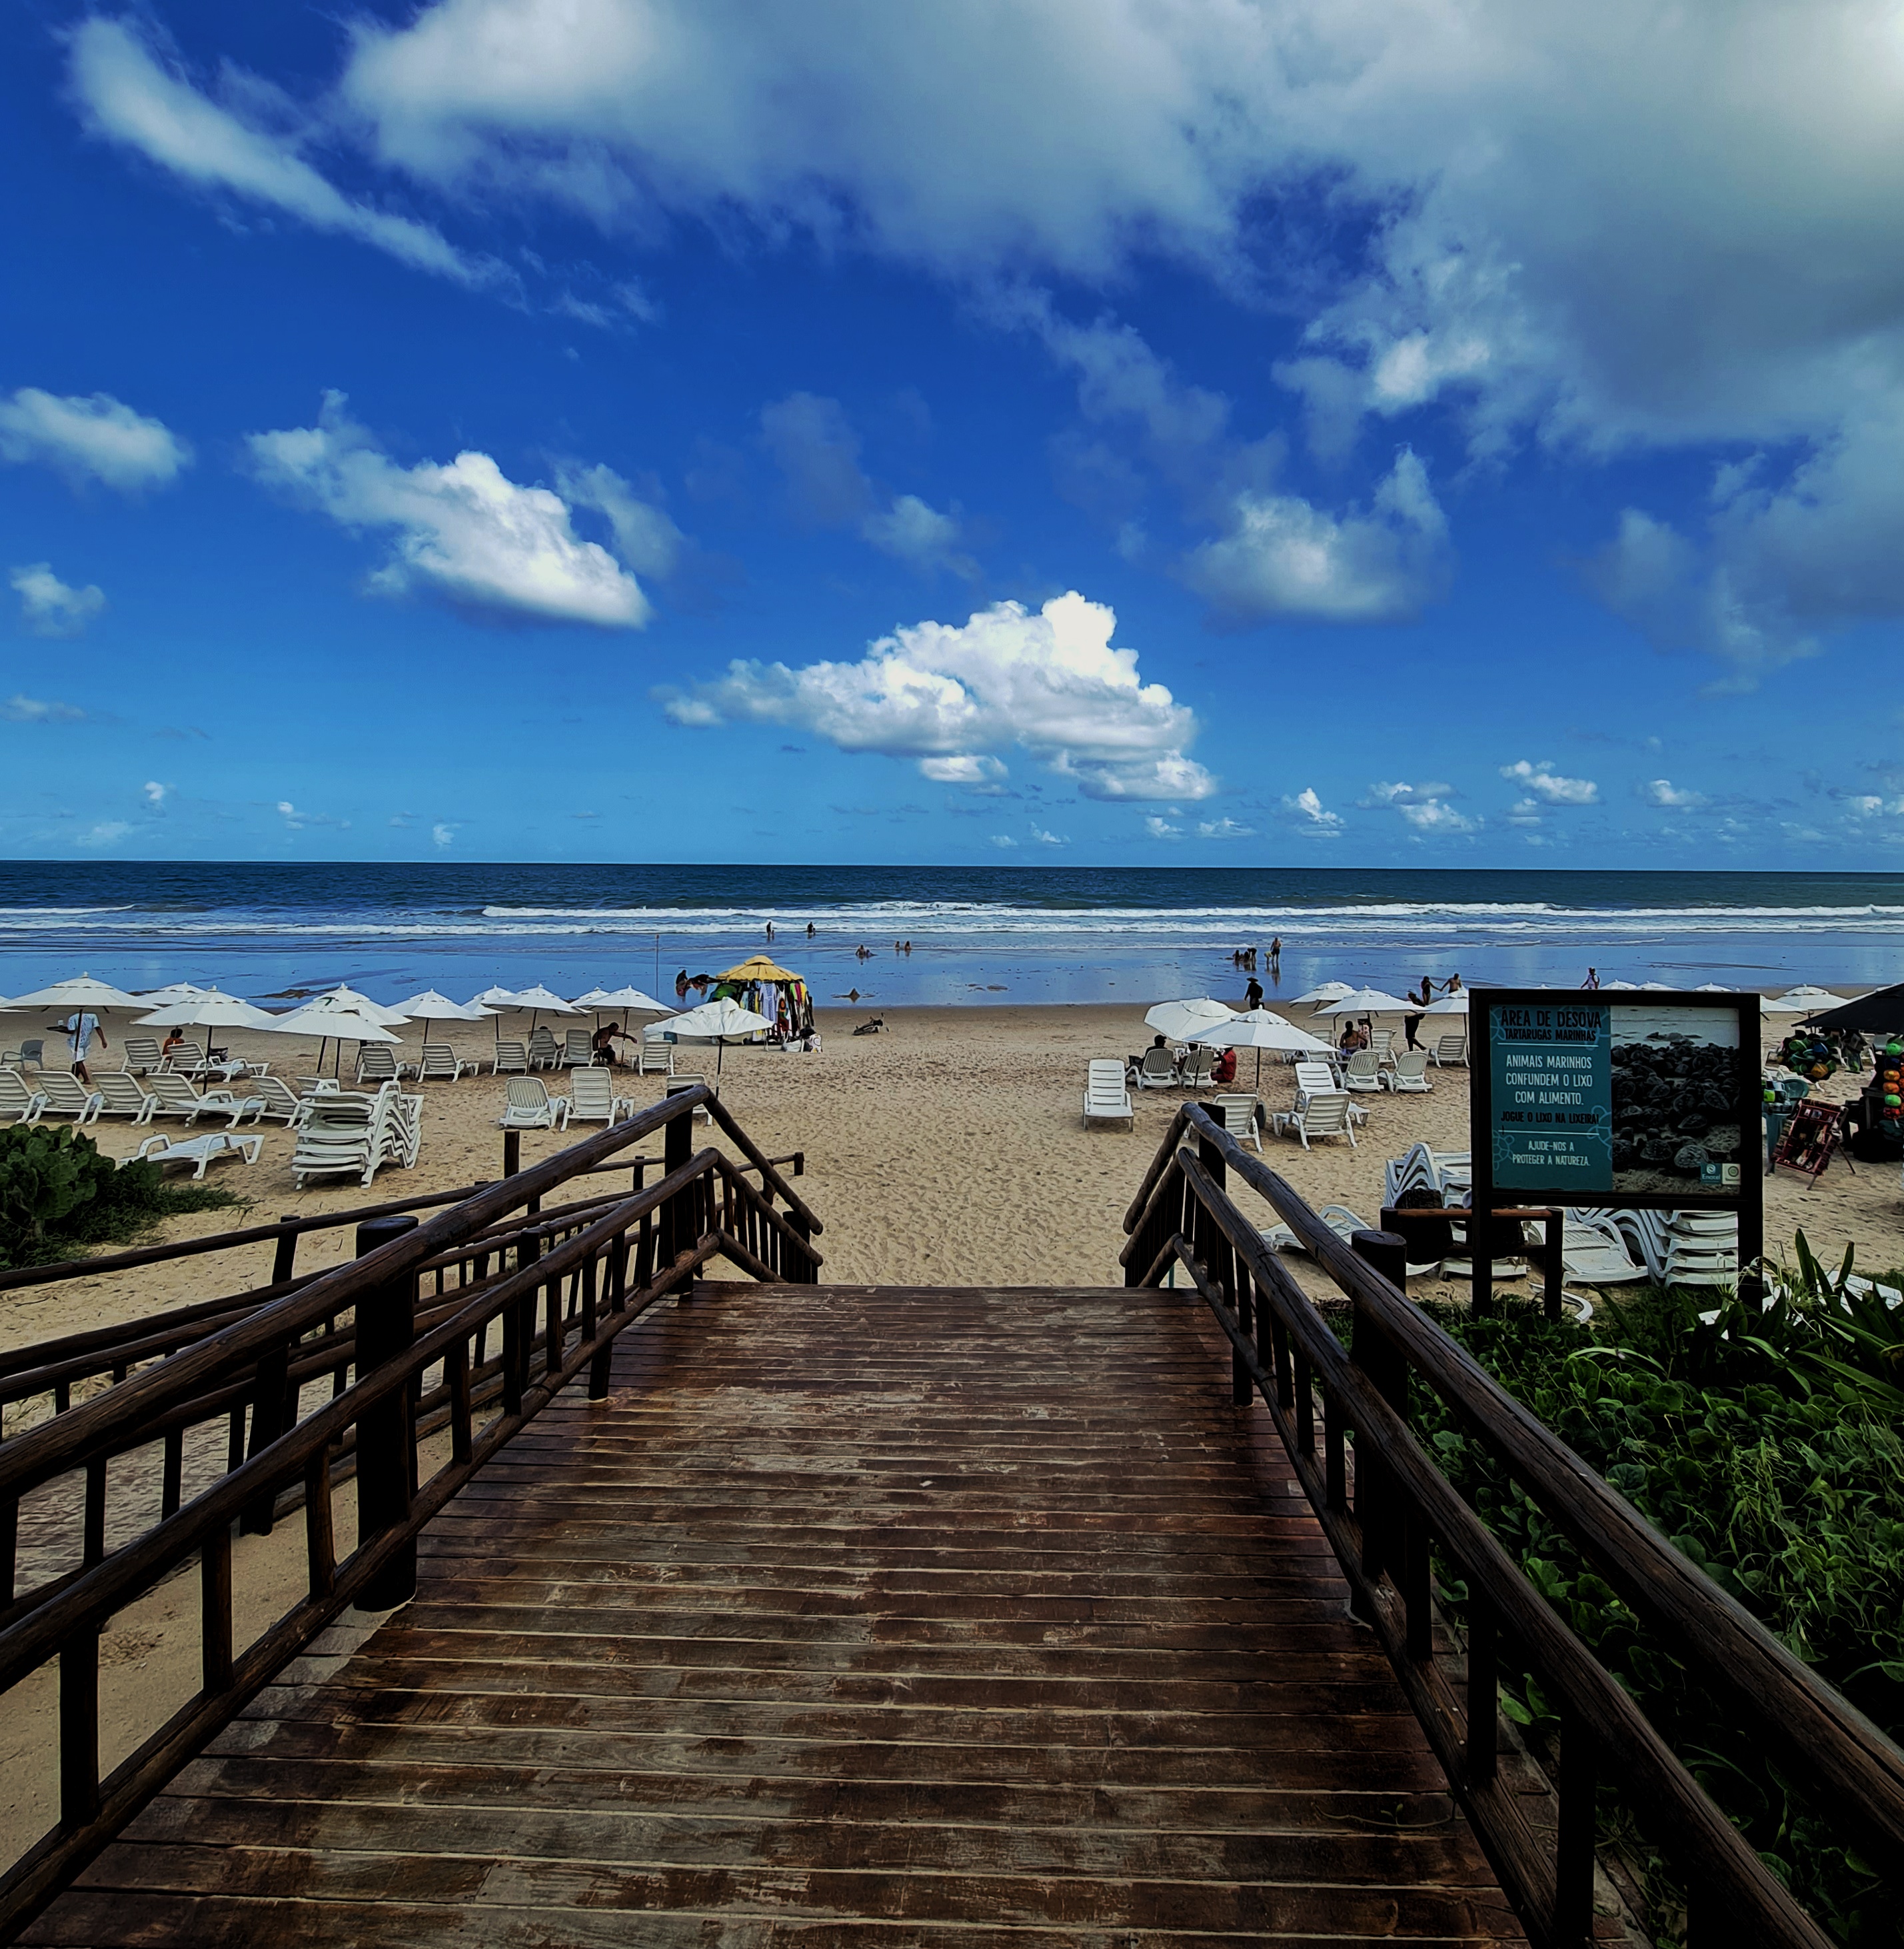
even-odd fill
[(421, 589), (472, 608), (616, 630), (639, 630), (653, 614), (635, 577), (598, 542), (577, 538), (557, 493), (516, 485), (487, 454), (400, 468), (335, 392), (316, 427), (253, 433), (248, 444), (269, 485), (345, 528), (394, 530), (390, 559), (368, 583), (378, 594)]

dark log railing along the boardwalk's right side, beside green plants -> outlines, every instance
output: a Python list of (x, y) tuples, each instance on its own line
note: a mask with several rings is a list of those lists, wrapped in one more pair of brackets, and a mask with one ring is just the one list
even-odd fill
[[(1280, 1212), (1354, 1304), (1345, 1347), (1228, 1195)], [(1401, 1690), (1530, 1937), (1592, 1935), (1594, 1797), (1614, 1783), (1688, 1889), (1699, 1941), (1805, 1945), (1828, 1935), (1534, 1588), (1409, 1431), (1428, 1388), (1766, 1748), (1820, 1789), (1873, 1859), (1904, 1859), (1904, 1752), (1653, 1530), (1399, 1290), (1401, 1240), (1351, 1247), (1200, 1105), (1187, 1105), (1124, 1218), (1126, 1282), (1183, 1267), (1232, 1345), (1232, 1399), (1261, 1399)], [(1466, 1670), (1438, 1643), (1430, 1553), (1467, 1585)], [(1557, 1826), (1536, 1832), (1497, 1770), (1497, 1661), (1508, 1637), (1559, 1700)]]

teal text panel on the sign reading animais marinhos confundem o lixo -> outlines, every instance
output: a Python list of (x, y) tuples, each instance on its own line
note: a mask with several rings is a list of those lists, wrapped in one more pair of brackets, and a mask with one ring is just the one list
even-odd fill
[(1487, 1010), (1495, 1185), (1614, 1189), (1614, 1035), (1604, 1002)]

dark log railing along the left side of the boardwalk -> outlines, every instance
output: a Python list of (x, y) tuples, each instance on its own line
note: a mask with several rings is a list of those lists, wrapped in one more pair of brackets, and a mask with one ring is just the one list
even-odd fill
[[(704, 1103), (744, 1164), (713, 1148), (692, 1150), (692, 1119)], [(657, 1183), (538, 1210), (524, 1222), (524, 1206), (655, 1130), (665, 1134)], [(758, 1187), (748, 1171), (762, 1177)], [(380, 1232), (405, 1224), (394, 1236)], [(778, 1166), (696, 1088), (477, 1189), (425, 1224), (405, 1214), (370, 1220), (361, 1257), (296, 1280), (294, 1290), (0, 1446), (8, 1516), (35, 1489), (60, 1477), (84, 1481), (80, 1569), (0, 1612), (0, 1694), (58, 1664), (60, 1781), (57, 1826), (0, 1873), (0, 1939), (12, 1939), (339, 1610), (403, 1602), (415, 1586), (421, 1528), (569, 1382), (587, 1374), (589, 1397), (606, 1395), (614, 1341), (647, 1308), (692, 1292), (696, 1271), (713, 1257), (756, 1279), (811, 1282), (820, 1267), (819, 1230)], [(427, 1279), (435, 1290), (423, 1290)], [(483, 1380), (491, 1384), (487, 1417)], [(304, 1411), (312, 1382), (320, 1405)], [(171, 1438), (220, 1415), (232, 1415), (236, 1429), (228, 1468), (179, 1503)], [(425, 1448), (429, 1425), (446, 1440)], [(105, 1549), (109, 1471), (154, 1442), (166, 1444), (170, 1507), (162, 1503), (150, 1526)], [(347, 1549), (331, 1499), (345, 1456), (357, 1468), (357, 1540)], [(300, 1491), (304, 1514), (304, 1594), (240, 1647), (234, 1530), (269, 1528), (290, 1489)], [(101, 1777), (99, 1637), (140, 1594), (193, 1563), (201, 1686)]]

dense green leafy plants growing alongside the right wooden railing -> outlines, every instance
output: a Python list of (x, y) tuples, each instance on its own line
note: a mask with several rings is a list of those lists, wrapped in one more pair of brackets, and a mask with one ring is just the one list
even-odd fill
[[(1846, 1290), (1803, 1238), (1760, 1312), (1717, 1294), (1643, 1292), (1594, 1329), (1532, 1308), (1442, 1325), (1707, 1577), (1890, 1737), (1904, 1735), (1904, 1405), (1898, 1321)], [(1886, 1280), (1894, 1284), (1896, 1280)], [(1904, 1310), (1900, 1310), (1904, 1312)], [(1448, 1477), (1549, 1604), (1635, 1696), (1692, 1774), (1840, 1941), (1904, 1941), (1896, 1902), (1842, 1809), (1816, 1805), (1736, 1711), (1697, 1684), (1569, 1538), (1427, 1390), (1417, 1427)], [(1466, 1592), (1444, 1585), (1456, 1610)], [(1503, 1707), (1536, 1750), (1553, 1709), (1530, 1670), (1503, 1670)], [(1653, 1926), (1672, 1935), (1670, 1877), (1610, 1787), (1602, 1824), (1653, 1869)]]

